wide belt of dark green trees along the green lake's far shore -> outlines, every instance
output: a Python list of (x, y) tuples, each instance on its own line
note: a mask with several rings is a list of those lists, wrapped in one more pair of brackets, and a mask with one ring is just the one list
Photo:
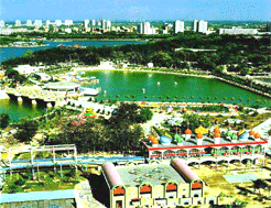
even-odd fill
[[(32, 58), (19, 57), (2, 63), (4, 66), (25, 63), (55, 64), (72, 58), (74, 62), (87, 65), (99, 64), (100, 59), (123, 61), (131, 64), (187, 68), (187, 62), (193, 68), (219, 73), (219, 65), (228, 65), (228, 70), (241, 72), (242, 75), (253, 72), (270, 72), (270, 37), (254, 39), (245, 35), (203, 35), (186, 32), (170, 36), (162, 41), (150, 41), (145, 44), (129, 44), (122, 46), (104, 46), (87, 48), (50, 48), (34, 52)], [(180, 48), (176, 51), (176, 48)], [(193, 52), (187, 48), (205, 48), (216, 51)]]

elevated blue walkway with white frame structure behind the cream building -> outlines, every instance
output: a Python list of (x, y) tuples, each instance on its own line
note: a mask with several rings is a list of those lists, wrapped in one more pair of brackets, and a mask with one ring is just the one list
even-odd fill
[(35, 172), (43, 167), (59, 168), (62, 174), (64, 166), (76, 169), (80, 167), (87, 171), (89, 166), (99, 166), (107, 162), (123, 165), (144, 163), (142, 156), (78, 156), (75, 144), (10, 147), (8, 150), (2, 147), (0, 158), (0, 182), (6, 178), (8, 172), (12, 174), (18, 169), (32, 169), (34, 177)]

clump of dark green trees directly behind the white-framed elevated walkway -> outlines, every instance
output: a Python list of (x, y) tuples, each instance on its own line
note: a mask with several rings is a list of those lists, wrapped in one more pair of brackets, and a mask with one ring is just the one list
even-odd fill
[(121, 103), (108, 120), (87, 119), (79, 127), (74, 119), (63, 118), (58, 134), (50, 135), (45, 144), (76, 144), (79, 153), (139, 151), (144, 136), (139, 123), (151, 118), (152, 112), (128, 103)]

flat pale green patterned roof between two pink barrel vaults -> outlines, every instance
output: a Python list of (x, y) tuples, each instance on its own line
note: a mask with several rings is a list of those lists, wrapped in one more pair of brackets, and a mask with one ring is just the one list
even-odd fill
[(165, 164), (118, 166), (117, 172), (126, 186), (137, 186), (142, 182), (158, 186), (167, 180), (186, 184), (185, 179), (171, 165)]

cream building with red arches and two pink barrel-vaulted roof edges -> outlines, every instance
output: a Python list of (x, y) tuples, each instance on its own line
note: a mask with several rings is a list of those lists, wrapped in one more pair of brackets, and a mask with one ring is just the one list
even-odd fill
[(176, 207), (214, 205), (217, 197), (205, 197), (204, 182), (181, 160), (171, 164), (115, 166), (105, 163), (110, 207)]

